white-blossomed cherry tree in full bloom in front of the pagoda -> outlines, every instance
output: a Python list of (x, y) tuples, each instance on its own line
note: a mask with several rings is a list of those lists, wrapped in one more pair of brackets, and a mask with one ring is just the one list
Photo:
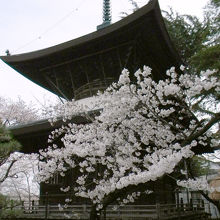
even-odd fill
[[(192, 76), (180, 69), (171, 68), (159, 81), (146, 66), (132, 76), (123, 70), (89, 105), (66, 103), (65, 121), (81, 115), (87, 123), (70, 122), (51, 133), (50, 146), (40, 152), (41, 181), (73, 169), (74, 180), (61, 190), (89, 199), (90, 219), (99, 219), (109, 204), (134, 202), (149, 182), (172, 176), (181, 161), (217, 147), (211, 129), (219, 122), (219, 108), (198, 100), (201, 92), (220, 92), (215, 71)], [(195, 102), (212, 112), (206, 120), (193, 112)], [(58, 137), (62, 146), (54, 142)]]

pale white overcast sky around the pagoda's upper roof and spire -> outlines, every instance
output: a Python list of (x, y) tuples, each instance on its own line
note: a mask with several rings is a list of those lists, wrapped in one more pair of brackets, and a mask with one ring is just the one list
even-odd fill
[[(103, 0), (0, 0), (0, 55), (50, 47), (96, 30), (102, 23)], [(128, 0), (112, 0), (113, 22), (131, 9)], [(137, 0), (142, 6), (148, 0)], [(159, 0), (162, 10), (171, 6), (181, 14), (202, 17), (208, 0)], [(0, 60), (0, 96), (43, 103), (53, 95), (25, 79)]]

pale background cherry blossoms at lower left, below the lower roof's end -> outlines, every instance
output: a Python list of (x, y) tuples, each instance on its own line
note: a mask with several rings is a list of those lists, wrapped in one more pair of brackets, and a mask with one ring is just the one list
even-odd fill
[[(38, 155), (14, 153), (8, 161), (16, 160), (10, 170), (8, 178), (0, 185), (0, 193), (17, 201), (31, 201), (39, 197), (39, 182), (35, 176), (38, 173)], [(7, 169), (6, 164), (1, 167), (0, 176)]]

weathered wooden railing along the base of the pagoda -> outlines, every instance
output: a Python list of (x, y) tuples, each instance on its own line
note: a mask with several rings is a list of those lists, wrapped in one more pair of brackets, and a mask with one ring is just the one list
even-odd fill
[[(37, 219), (89, 219), (90, 205), (68, 205), (59, 208), (58, 205), (23, 204), (17, 209), (23, 211), (24, 218)], [(181, 216), (192, 216), (204, 213), (204, 207), (187, 204), (156, 204), (156, 205), (126, 205), (118, 208), (108, 206), (101, 213), (101, 219), (178, 219)], [(197, 219), (197, 218), (195, 218)], [(199, 218), (198, 218), (199, 219)]]

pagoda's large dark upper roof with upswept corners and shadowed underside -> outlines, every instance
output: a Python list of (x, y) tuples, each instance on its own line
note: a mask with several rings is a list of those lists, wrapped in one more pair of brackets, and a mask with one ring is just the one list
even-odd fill
[(85, 98), (143, 65), (155, 79), (180, 65), (157, 0), (80, 38), (30, 53), (0, 57), (31, 81), (68, 100)]

